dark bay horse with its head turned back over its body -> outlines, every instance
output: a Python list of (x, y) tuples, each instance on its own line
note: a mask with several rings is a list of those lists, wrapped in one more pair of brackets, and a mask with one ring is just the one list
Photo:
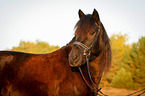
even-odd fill
[(92, 80), (99, 87), (103, 71), (111, 65), (111, 47), (96, 9), (88, 15), (79, 10), (79, 18), (71, 42), (52, 53), (0, 51), (0, 96), (96, 95), (80, 72), (92, 86), (88, 61)]

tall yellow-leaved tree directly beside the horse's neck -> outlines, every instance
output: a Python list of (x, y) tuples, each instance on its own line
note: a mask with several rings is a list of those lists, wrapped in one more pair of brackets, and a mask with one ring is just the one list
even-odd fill
[(101, 86), (111, 86), (113, 77), (116, 72), (120, 70), (123, 55), (130, 50), (130, 46), (126, 44), (128, 38), (127, 35), (113, 34), (110, 37), (112, 48), (112, 64), (109, 73), (103, 76)]

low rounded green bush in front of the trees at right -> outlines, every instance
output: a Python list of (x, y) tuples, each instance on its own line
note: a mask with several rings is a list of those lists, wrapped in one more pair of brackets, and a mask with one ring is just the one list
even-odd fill
[(113, 77), (112, 87), (133, 89), (132, 74), (121, 68)]

